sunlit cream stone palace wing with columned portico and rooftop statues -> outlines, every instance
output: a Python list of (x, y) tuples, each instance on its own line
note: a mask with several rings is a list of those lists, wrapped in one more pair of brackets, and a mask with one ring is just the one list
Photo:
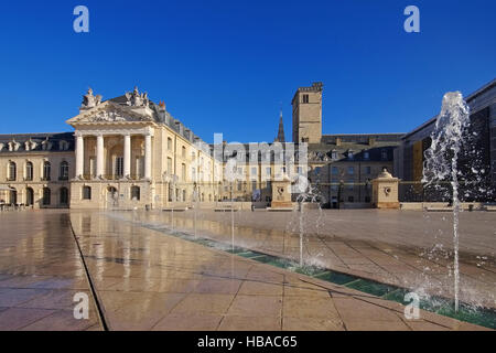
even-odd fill
[(75, 129), (71, 207), (160, 208), (218, 197), (222, 162), (209, 146), (138, 88), (106, 101), (88, 90), (67, 124)]

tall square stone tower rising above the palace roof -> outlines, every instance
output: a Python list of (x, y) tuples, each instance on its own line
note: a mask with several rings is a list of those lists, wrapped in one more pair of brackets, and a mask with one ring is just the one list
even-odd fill
[(320, 143), (322, 138), (322, 90), (323, 84), (315, 82), (311, 87), (300, 87), (294, 94), (293, 142)]

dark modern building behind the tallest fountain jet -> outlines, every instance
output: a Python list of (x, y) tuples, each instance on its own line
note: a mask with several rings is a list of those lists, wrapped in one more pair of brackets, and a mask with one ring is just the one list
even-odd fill
[[(459, 158), (462, 174), (461, 199), (464, 201), (496, 201), (496, 79), (465, 97), (471, 109), (467, 146)], [(395, 171), (403, 181), (400, 200), (441, 201), (443, 195), (420, 188), (424, 151), (431, 145), (431, 133), (438, 116), (406, 133), (395, 157)], [(475, 172), (472, 170), (475, 167)], [(481, 188), (467, 186), (464, 180), (475, 180)], [(407, 183), (411, 182), (410, 186)], [(444, 193), (445, 196), (446, 193)], [(445, 200), (444, 200), (445, 201)]]

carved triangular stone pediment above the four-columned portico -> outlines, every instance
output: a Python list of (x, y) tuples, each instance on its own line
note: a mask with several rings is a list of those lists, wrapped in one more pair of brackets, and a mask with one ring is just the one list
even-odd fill
[(154, 121), (153, 111), (150, 108), (128, 107), (107, 100), (96, 107), (82, 109), (77, 116), (68, 119), (67, 124), (123, 124), (147, 121)]

